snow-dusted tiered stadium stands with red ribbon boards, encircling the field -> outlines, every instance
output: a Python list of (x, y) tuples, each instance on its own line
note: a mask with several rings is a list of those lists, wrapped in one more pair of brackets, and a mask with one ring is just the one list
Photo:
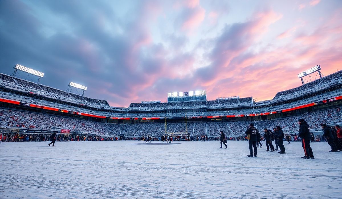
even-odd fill
[[(128, 108), (111, 107), (106, 100), (77, 95), (71, 89), (63, 91), (2, 73), (0, 78), (2, 132), (67, 130), (73, 136), (137, 139), (150, 135), (160, 140), (166, 134), (216, 138), (223, 130), (226, 136), (240, 137), (251, 122), (259, 129), (280, 125), (285, 133), (294, 134), (298, 119), (305, 118), (318, 136), (323, 134), (321, 123), (342, 121), (342, 71), (279, 91), (273, 99), (261, 102), (253, 96), (207, 100), (202, 90), (168, 93), (168, 102), (142, 101)], [(74, 88), (83, 89), (84, 94), (87, 87), (80, 86)]]

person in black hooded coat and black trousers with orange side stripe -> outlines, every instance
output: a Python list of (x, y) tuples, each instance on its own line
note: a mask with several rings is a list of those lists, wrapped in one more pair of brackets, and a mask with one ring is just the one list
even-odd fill
[(310, 139), (311, 133), (309, 131), (309, 125), (307, 122), (302, 118), (298, 120), (299, 124), (299, 133), (298, 137), (302, 139), (302, 147), (304, 149), (304, 156), (303, 159), (315, 159), (312, 149), (310, 147)]

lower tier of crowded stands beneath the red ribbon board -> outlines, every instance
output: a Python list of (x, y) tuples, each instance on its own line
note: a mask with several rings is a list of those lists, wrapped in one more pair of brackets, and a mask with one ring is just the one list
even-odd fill
[[(257, 129), (272, 129), (280, 126), (285, 133), (298, 132), (298, 119), (308, 121), (310, 129), (320, 129), (321, 123), (338, 124), (342, 121), (341, 107), (289, 116), (273, 120), (255, 121)], [(141, 137), (146, 134), (162, 136), (167, 133), (189, 133), (191, 136), (218, 136), (223, 130), (227, 136), (244, 135), (250, 121), (209, 121), (209, 122), (149, 122), (135, 124), (112, 124), (94, 122), (79, 118), (63, 117), (57, 115), (32, 113), (8, 109), (0, 109), (0, 127), (17, 129), (61, 130), (69, 129), (71, 132), (83, 134), (97, 134), (102, 137), (125, 135)], [(292, 136), (293, 137), (293, 136)]]

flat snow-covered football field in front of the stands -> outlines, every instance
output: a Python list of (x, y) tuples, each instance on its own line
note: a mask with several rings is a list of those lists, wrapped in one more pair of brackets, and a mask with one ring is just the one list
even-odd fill
[(244, 141), (133, 143), (3, 142), (0, 198), (342, 198), (342, 152), (327, 143), (310, 160), (300, 142), (258, 158)]

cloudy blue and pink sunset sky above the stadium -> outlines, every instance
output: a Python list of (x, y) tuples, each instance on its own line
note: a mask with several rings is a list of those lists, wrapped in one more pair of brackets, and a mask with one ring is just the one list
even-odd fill
[(111, 106), (191, 90), (267, 100), (306, 69), (342, 69), (341, 19), (341, 0), (0, 0), (0, 72), (21, 64)]

